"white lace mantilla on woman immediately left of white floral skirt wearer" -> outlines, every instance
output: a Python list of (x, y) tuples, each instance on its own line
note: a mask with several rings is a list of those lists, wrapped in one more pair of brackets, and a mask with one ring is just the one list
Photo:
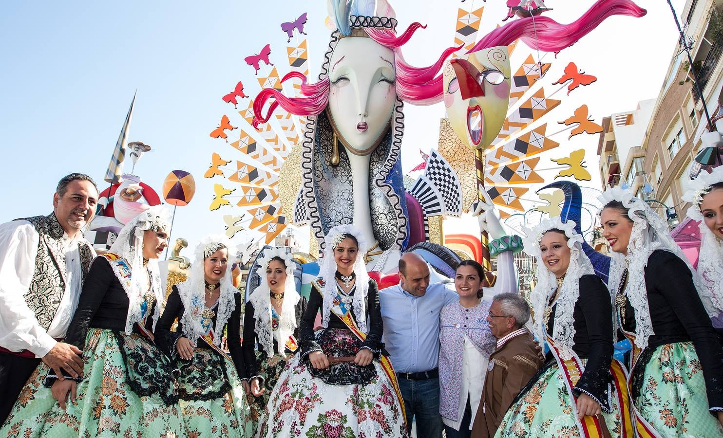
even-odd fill
[[(279, 315), (278, 328), (273, 330), (271, 325), (271, 288), (266, 280), (266, 269), (275, 257), (283, 260), (286, 267), (286, 281), (283, 283), (283, 303)], [(273, 340), (276, 340), (278, 350), (283, 353), (283, 346), (286, 345), (288, 337), (294, 334), (296, 328), (296, 304), (301, 296), (296, 292), (294, 282), (294, 257), (291, 252), (284, 248), (265, 249), (262, 257), (257, 261), (259, 267), (256, 273), (259, 275), (259, 286), (249, 296), (249, 302), (254, 305), (254, 317), (256, 318), (256, 338), (261, 349), (268, 356), (273, 356)]]

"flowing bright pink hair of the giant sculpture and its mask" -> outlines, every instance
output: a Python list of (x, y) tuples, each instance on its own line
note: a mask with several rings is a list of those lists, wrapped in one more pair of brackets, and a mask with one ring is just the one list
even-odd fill
[[(468, 53), (495, 46), (508, 46), (521, 38), (528, 46), (547, 52), (558, 52), (576, 43), (590, 33), (607, 17), (612, 15), (628, 15), (643, 17), (646, 10), (638, 7), (631, 0), (598, 0), (582, 17), (569, 25), (561, 25), (549, 17), (532, 16), (508, 22), (502, 27), (492, 30), (484, 36)], [(445, 60), (461, 47), (446, 48), (435, 64), (427, 67), (414, 67), (406, 63), (401, 47), (411, 39), (420, 27), (418, 22), (412, 23), (404, 33), (397, 37), (393, 30), (364, 27), (370, 38), (382, 46), (390, 48), (395, 54), (397, 79), (395, 87), (398, 97), (407, 103), (431, 105), (440, 102), (442, 94), (442, 74), (440, 69)], [(316, 116), (324, 111), (329, 102), (329, 78), (307, 84), (307, 77), (299, 72), (291, 72), (283, 77), (285, 82), (293, 77), (301, 79), (301, 94), (304, 97), (289, 98), (273, 88), (265, 88), (254, 100), (254, 128), (266, 123), (276, 107), (296, 116)], [(263, 111), (265, 104), (274, 98), (268, 109)]]

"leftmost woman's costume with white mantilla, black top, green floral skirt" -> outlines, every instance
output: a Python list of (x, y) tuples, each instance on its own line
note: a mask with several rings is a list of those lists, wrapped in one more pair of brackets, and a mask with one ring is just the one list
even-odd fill
[[(4, 437), (181, 435), (181, 415), (168, 358), (150, 340), (163, 299), (155, 259), (145, 265), (143, 234), (168, 230), (151, 207), (96, 257), (65, 342), (83, 350), (77, 401), (63, 411), (49, 387), (57, 377), (41, 364), (0, 429)], [(144, 266), (145, 265), (145, 266)], [(66, 379), (72, 377), (66, 376)], [(45, 385), (43, 385), (45, 383)], [(47, 386), (47, 387), (46, 387)]]

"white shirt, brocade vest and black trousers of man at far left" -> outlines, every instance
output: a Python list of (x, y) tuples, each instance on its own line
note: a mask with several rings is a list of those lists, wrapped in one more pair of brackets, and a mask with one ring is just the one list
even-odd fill
[(40, 358), (65, 338), (93, 257), (54, 213), (0, 225), (0, 425)]

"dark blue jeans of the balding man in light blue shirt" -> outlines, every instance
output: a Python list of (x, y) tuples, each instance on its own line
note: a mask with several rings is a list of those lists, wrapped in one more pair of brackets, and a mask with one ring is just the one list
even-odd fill
[(440, 379), (398, 380), (404, 399), (407, 432), (411, 431), (411, 421), (415, 418), (417, 438), (441, 438)]

